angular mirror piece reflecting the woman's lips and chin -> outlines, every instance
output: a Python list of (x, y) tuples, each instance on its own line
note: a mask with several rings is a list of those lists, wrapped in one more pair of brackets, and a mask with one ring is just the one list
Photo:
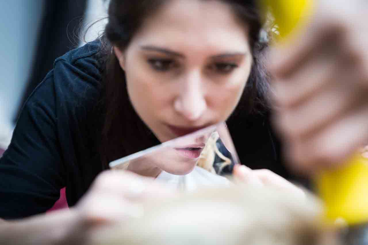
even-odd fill
[(166, 141), (112, 161), (109, 165), (113, 169), (128, 169), (130, 164), (142, 163), (142, 161), (149, 161), (157, 166), (170, 166), (169, 169), (172, 170), (170, 174), (174, 175), (181, 175), (178, 174), (180, 169), (191, 170), (195, 166), (212, 174), (229, 175), (234, 165), (239, 163), (225, 123)]

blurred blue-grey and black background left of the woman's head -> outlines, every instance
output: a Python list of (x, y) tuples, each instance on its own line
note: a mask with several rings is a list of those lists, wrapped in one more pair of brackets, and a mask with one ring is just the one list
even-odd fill
[[(86, 27), (106, 17), (106, 0), (12, 0), (0, 8), (0, 156), (23, 103), (54, 60), (84, 44)], [(89, 29), (95, 39), (106, 20)]]

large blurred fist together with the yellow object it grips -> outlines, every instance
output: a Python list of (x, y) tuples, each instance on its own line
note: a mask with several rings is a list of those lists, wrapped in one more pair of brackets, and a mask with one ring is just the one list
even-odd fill
[[(362, 224), (368, 223), (368, 159), (361, 155), (343, 159), (368, 142), (368, 28), (360, 24), (368, 4), (264, 3), (286, 43), (273, 50), (271, 72), (279, 106), (275, 121), (286, 139), (287, 155), (298, 170), (320, 173), (316, 185), (328, 221), (342, 218), (350, 231), (357, 226), (364, 229)], [(313, 18), (308, 23), (305, 17), (311, 11)], [(291, 34), (295, 30), (301, 33)], [(349, 234), (346, 244), (363, 241), (355, 234), (357, 240), (351, 242)]]

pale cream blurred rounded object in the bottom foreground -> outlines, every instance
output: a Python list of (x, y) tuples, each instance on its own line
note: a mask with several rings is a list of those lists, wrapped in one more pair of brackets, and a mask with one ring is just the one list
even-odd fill
[[(249, 185), (200, 189), (143, 205), (143, 216), (96, 232), (92, 244), (335, 244), (312, 196)], [(332, 234), (332, 236), (331, 236)]]

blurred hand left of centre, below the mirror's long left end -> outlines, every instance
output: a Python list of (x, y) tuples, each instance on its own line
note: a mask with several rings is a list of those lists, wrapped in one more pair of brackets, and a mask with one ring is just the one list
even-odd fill
[[(89, 234), (116, 223), (143, 215), (142, 203), (148, 199), (167, 198), (175, 190), (129, 171), (108, 170), (99, 174), (85, 196), (77, 203), (77, 225), (69, 234), (70, 242), (85, 244)], [(73, 232), (78, 234), (73, 234)], [(78, 239), (76, 237), (79, 237)]]

